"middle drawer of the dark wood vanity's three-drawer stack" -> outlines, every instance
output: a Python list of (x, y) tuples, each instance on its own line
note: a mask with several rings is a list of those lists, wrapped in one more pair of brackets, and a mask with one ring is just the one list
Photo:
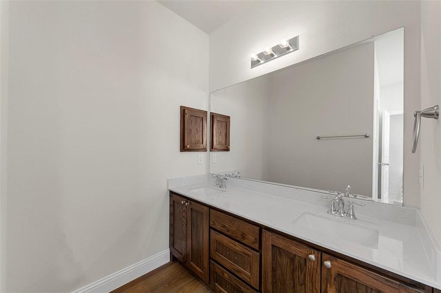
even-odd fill
[(210, 257), (254, 288), (259, 288), (260, 253), (211, 229)]

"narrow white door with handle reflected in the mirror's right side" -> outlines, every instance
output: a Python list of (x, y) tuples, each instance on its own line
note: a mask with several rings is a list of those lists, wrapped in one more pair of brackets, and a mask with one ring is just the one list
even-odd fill
[(387, 202), (389, 198), (389, 140), (391, 136), (391, 114), (386, 110), (383, 110), (383, 123), (381, 130), (381, 201)]

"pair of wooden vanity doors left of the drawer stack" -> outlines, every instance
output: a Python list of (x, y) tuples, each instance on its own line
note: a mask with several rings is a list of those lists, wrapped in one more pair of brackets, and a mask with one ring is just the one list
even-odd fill
[(208, 283), (209, 208), (171, 194), (169, 234), (172, 255)]

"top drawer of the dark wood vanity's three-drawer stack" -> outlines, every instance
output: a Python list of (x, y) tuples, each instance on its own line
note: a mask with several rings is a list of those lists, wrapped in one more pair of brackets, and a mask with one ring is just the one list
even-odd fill
[(255, 250), (259, 249), (259, 227), (210, 209), (210, 226)]

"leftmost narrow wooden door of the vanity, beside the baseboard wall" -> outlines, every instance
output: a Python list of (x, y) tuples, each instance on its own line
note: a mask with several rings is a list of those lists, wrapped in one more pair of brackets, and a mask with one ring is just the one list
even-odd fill
[(169, 246), (171, 253), (181, 262), (186, 260), (187, 245), (186, 199), (176, 194), (170, 196)]

